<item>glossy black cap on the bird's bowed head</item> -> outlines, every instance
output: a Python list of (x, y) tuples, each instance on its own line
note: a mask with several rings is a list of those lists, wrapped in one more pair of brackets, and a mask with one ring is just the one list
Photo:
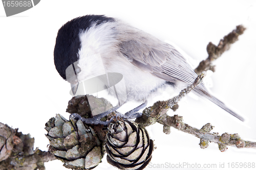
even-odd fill
[[(94, 24), (97, 26), (108, 21), (114, 21), (114, 18), (104, 15), (86, 15), (68, 21), (59, 29), (54, 47), (54, 64), (63, 79), (67, 80), (68, 66), (79, 60), (78, 51), (81, 48), (79, 33), (90, 29)], [(77, 86), (78, 83), (76, 88)], [(75, 94), (76, 90), (73, 90), (73, 87), (72, 91)]]

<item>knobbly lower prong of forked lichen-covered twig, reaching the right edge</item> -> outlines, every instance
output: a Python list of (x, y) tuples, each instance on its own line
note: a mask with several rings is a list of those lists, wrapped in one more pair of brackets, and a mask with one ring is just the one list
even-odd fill
[(174, 127), (182, 132), (189, 133), (200, 138), (200, 147), (205, 149), (208, 147), (208, 142), (215, 142), (219, 145), (220, 151), (226, 151), (227, 145), (236, 146), (237, 148), (256, 148), (256, 142), (245, 141), (240, 138), (238, 134), (228, 134), (223, 133), (222, 135), (218, 135), (218, 133), (209, 133), (214, 127), (211, 124), (204, 125), (201, 129), (193, 128), (187, 124), (183, 123), (182, 116), (174, 115), (168, 116), (166, 113), (161, 117), (159, 116), (151, 116), (150, 111), (143, 112), (143, 115), (136, 119), (137, 123), (140, 126), (145, 127), (149, 126), (153, 123), (159, 123), (164, 125), (164, 132), (167, 134), (170, 133), (169, 129), (166, 131), (167, 127)]

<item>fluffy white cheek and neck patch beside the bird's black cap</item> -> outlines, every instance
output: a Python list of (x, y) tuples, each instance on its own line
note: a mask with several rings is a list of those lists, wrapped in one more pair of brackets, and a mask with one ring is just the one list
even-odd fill
[(105, 74), (104, 56), (111, 51), (114, 23), (104, 23), (102, 25), (93, 25), (88, 30), (81, 30), (79, 34), (81, 48), (78, 51), (78, 67), (81, 72), (78, 81), (84, 81), (89, 77), (95, 77)]

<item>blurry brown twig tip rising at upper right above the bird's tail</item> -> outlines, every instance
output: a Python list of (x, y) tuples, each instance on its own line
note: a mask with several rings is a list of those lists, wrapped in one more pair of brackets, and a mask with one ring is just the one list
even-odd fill
[(218, 46), (209, 42), (206, 48), (209, 56), (206, 60), (200, 62), (198, 67), (195, 69), (195, 72), (200, 75), (202, 71), (215, 71), (215, 66), (212, 65), (211, 62), (219, 58), (225, 51), (229, 50), (231, 44), (236, 42), (239, 35), (242, 35), (245, 30), (245, 27), (239, 25), (236, 30), (233, 30), (228, 35), (224, 36), (224, 38), (220, 40)]

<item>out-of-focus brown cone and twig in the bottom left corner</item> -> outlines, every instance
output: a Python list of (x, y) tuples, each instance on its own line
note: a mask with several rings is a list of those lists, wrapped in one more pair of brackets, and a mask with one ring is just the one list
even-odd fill
[(50, 152), (33, 150), (34, 138), (0, 123), (0, 170), (44, 170), (44, 162), (56, 159)]

